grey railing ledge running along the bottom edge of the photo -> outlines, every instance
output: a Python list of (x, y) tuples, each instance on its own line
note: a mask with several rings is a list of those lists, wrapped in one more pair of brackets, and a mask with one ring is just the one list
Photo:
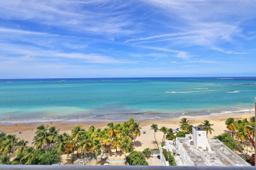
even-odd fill
[(255, 167), (183, 167), (183, 166), (48, 166), (48, 165), (0, 165), (1, 170), (255, 170)]

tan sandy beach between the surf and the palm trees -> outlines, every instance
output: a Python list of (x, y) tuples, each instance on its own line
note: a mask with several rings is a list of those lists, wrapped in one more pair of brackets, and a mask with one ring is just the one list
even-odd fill
[[(227, 129), (225, 126), (225, 120), (229, 117), (234, 117), (235, 119), (244, 119), (249, 118), (250, 116), (254, 116), (253, 112), (248, 112), (243, 115), (241, 114), (228, 114), (221, 116), (201, 116), (201, 117), (187, 117), (190, 124), (193, 126), (199, 125), (204, 120), (209, 120), (213, 126), (214, 131), (212, 134), (208, 134), (208, 138), (211, 139), (214, 136), (217, 136), (222, 133), (227, 133)], [(178, 119), (170, 119), (170, 120), (161, 120), (161, 121), (144, 121), (139, 122), (141, 129), (141, 136), (137, 137), (135, 145), (135, 150), (144, 150), (145, 148), (154, 149), (154, 131), (150, 130), (150, 126), (152, 124), (157, 124), (158, 127), (168, 127), (176, 129), (179, 127), (179, 122), (181, 118)], [(135, 120), (136, 121), (136, 120)], [(137, 121), (136, 121), (137, 122)], [(119, 123), (119, 122), (114, 122)], [(82, 125), (85, 129), (88, 129), (90, 126), (95, 126), (96, 128), (107, 127), (108, 122), (96, 123), (96, 124), (48, 124), (49, 127), (55, 126), (57, 129), (60, 129), (60, 133), (71, 133), (71, 129), (77, 125)], [(25, 139), (29, 142), (28, 145), (32, 145), (32, 139), (36, 132), (36, 128), (38, 125), (28, 125), (28, 124), (16, 124), (16, 125), (0, 125), (0, 131), (5, 133), (13, 133), (20, 139)], [(143, 133), (146, 131), (146, 133)], [(160, 144), (163, 139), (163, 133), (158, 131), (156, 134), (156, 139)]]

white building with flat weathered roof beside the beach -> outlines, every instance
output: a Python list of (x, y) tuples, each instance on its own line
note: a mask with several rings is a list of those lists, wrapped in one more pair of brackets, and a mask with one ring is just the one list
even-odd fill
[[(250, 166), (218, 139), (207, 139), (202, 127), (193, 127), (185, 138), (167, 140), (163, 148), (172, 153), (177, 166)], [(160, 162), (168, 165), (161, 150)]]

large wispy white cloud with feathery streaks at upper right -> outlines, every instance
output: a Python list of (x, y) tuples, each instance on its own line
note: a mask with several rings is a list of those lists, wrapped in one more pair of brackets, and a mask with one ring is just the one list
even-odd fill
[[(155, 13), (166, 14), (171, 24), (178, 24), (178, 31), (149, 37), (128, 39), (125, 42), (151, 43), (167, 42), (177, 46), (205, 46), (218, 50), (222, 42), (234, 43), (234, 38), (242, 35), (243, 21), (256, 16), (253, 0), (141, 0), (148, 3)], [(175, 19), (175, 20), (173, 20)], [(168, 25), (168, 21), (165, 23)], [(147, 41), (145, 41), (147, 40)], [(237, 43), (237, 42), (236, 42)], [(220, 51), (220, 50), (218, 50)], [(230, 50), (223, 50), (224, 53)], [(230, 52), (229, 54), (241, 54)]]

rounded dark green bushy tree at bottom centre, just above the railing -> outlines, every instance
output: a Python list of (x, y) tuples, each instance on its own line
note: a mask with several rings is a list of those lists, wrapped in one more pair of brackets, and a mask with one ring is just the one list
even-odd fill
[(148, 166), (148, 161), (146, 161), (143, 153), (140, 151), (132, 151), (131, 154), (127, 156), (126, 161), (129, 165)]

